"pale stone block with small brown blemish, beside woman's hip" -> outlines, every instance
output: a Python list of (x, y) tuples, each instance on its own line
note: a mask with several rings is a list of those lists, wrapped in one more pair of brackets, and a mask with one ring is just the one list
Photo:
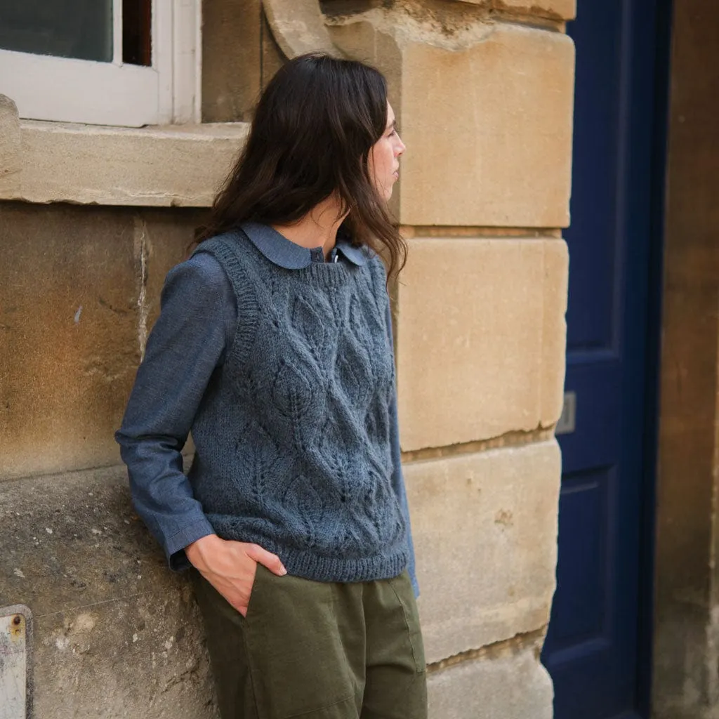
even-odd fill
[(549, 623), (560, 472), (554, 440), (405, 465), (429, 663)]

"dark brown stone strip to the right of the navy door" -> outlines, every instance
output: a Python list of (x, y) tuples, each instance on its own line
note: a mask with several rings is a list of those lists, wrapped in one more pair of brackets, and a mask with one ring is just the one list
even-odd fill
[(653, 706), (719, 717), (719, 17), (674, 4), (662, 300)]

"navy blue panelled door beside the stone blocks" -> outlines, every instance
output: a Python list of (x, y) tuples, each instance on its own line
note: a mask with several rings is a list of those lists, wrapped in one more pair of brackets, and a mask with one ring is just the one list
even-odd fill
[(637, 687), (658, 1), (579, 0), (568, 26), (577, 75), (566, 391), (576, 413), (559, 435), (557, 594), (542, 655), (556, 719), (645, 716)]

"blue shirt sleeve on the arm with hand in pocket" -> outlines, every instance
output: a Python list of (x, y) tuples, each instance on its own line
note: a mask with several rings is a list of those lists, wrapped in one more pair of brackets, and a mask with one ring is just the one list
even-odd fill
[(181, 452), (212, 374), (224, 361), (233, 317), (232, 285), (214, 257), (200, 252), (173, 267), (115, 434), (134, 508), (176, 571), (190, 566), (185, 547), (214, 533), (183, 474)]

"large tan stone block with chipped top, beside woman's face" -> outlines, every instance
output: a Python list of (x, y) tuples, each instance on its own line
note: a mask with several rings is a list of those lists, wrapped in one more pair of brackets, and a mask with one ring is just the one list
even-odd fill
[(409, 225), (569, 224), (574, 45), (559, 32), (400, 11), (334, 19), (347, 55), (390, 82), (407, 152), (395, 190)]

